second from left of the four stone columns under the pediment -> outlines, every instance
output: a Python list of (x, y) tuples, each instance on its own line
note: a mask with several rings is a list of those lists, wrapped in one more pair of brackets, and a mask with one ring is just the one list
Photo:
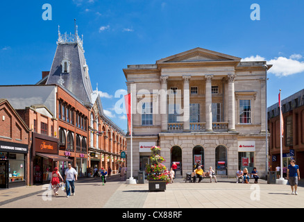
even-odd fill
[(191, 76), (183, 76), (184, 79), (184, 127), (183, 130), (185, 132), (190, 131), (190, 92), (189, 92), (189, 79)]

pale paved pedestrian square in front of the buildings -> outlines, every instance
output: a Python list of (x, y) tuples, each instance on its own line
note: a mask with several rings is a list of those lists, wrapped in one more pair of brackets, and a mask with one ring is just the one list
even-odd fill
[[(0, 208), (287, 208), (304, 207), (304, 182), (298, 195), (289, 185), (236, 183), (235, 179), (219, 178), (210, 183), (185, 182), (177, 178), (166, 191), (150, 192), (148, 182), (128, 185), (119, 176), (112, 176), (103, 186), (99, 179), (80, 178), (76, 196), (48, 196), (48, 185), (0, 189)], [(42, 187), (46, 187), (42, 189)]]

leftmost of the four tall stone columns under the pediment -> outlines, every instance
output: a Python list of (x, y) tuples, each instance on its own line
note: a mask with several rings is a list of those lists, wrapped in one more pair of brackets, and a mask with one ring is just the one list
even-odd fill
[(162, 132), (168, 130), (168, 113), (167, 113), (167, 80), (168, 76), (160, 76), (162, 89), (160, 91), (160, 117), (162, 121)]

